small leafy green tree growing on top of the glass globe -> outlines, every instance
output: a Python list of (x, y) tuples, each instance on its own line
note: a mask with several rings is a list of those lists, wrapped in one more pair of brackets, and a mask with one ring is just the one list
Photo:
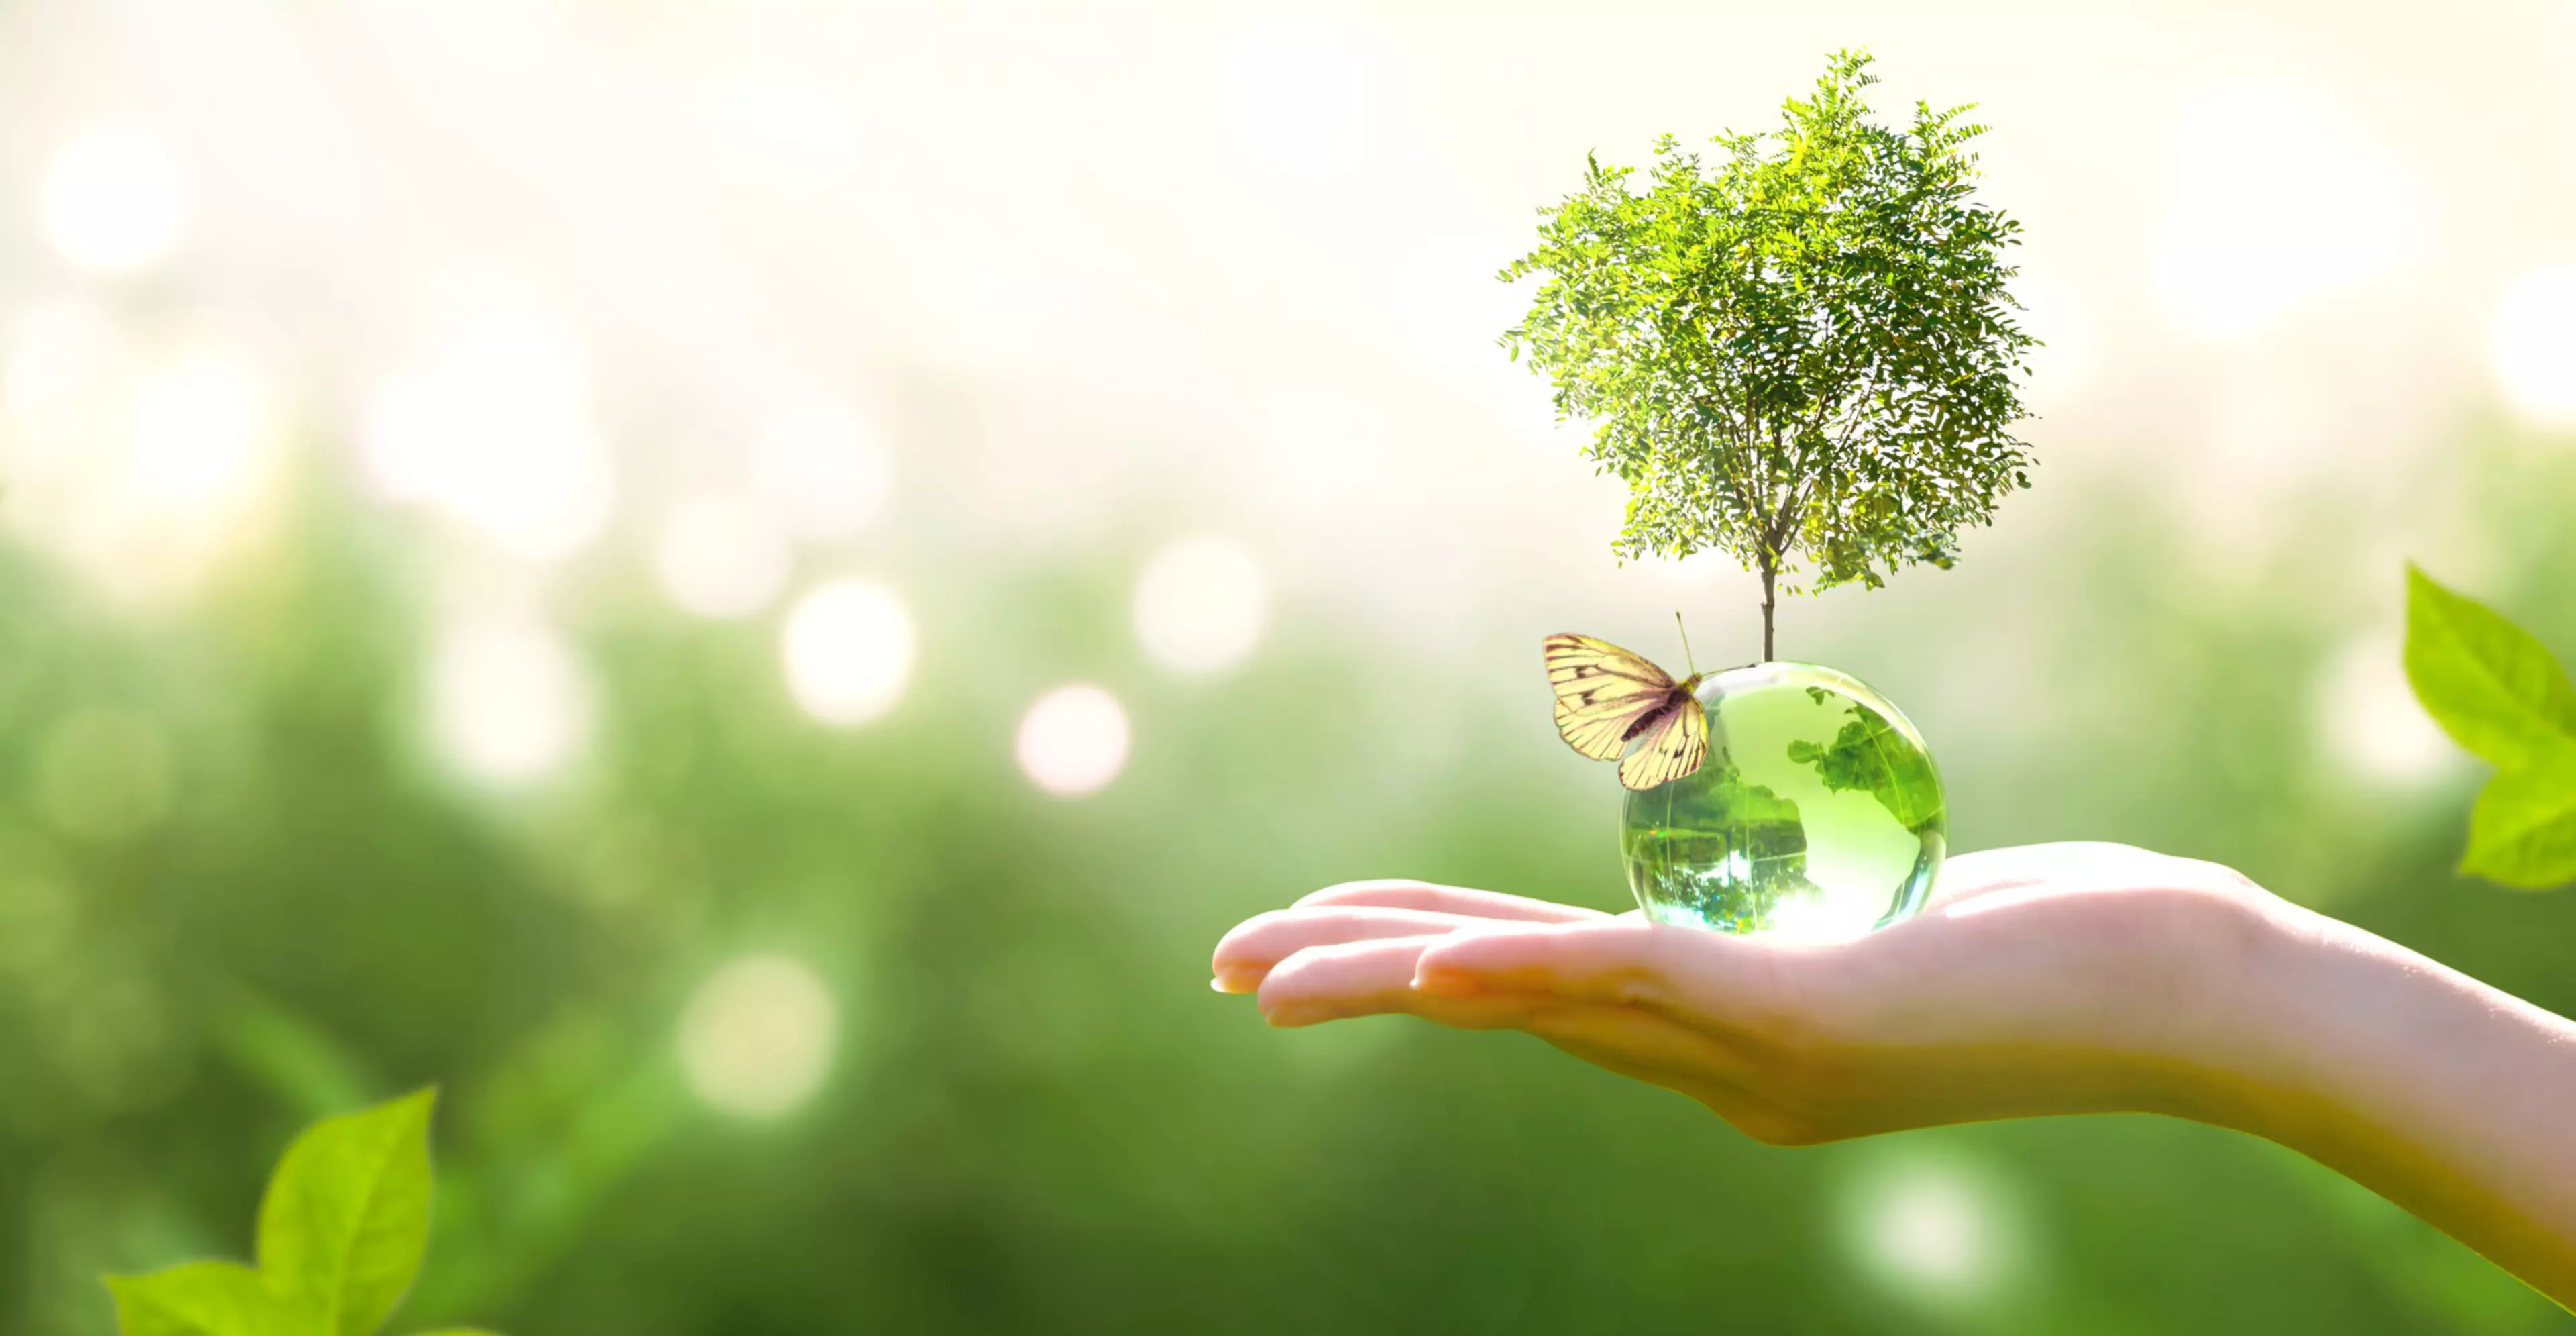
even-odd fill
[(1924, 103), (1870, 124), (1868, 70), (1837, 52), (1775, 134), (1718, 134), (1716, 168), (1662, 137), (1643, 193), (1587, 160), (1502, 271), (1546, 276), (1504, 346), (1597, 423), (1587, 457), (1628, 482), (1615, 552), (1759, 573), (1765, 660), (1801, 578), (1947, 567), (2030, 485), (2009, 436), (2035, 346), (2004, 289), (2020, 224), (1971, 199), (1986, 126)]

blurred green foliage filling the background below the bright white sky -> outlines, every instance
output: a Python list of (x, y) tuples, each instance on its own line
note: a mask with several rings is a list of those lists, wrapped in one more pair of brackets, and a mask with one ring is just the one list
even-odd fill
[[(2488, 431), (2450, 467), (2494, 536), (2481, 588), (2576, 640), (2576, 454)], [(2339, 593), (2336, 518), (2287, 516), (2221, 580), (2179, 524), (2092, 500), (2050, 562), (1816, 645), (1909, 702), (1958, 843), (2223, 859), (2576, 1011), (2576, 898), (2450, 872), (2468, 779), (2334, 761), (2318, 665), (2396, 616)], [(0, 552), (0, 1331), (108, 1333), (100, 1272), (229, 1251), (299, 1125), (433, 1081), (422, 1326), (2563, 1326), (2401, 1210), (2208, 1127), (1783, 1153), (1535, 1042), (1267, 1032), (1211, 998), (1229, 923), (1347, 877), (1618, 905), (1618, 794), (1561, 753), (1528, 660), (1427, 683), (1340, 609), (1285, 606), (1244, 671), (1167, 681), (1126, 642), (1126, 552), (948, 552), (912, 694), (840, 732), (778, 683), (773, 624), (685, 622), (611, 547), (549, 596), (598, 676), (595, 743), (502, 800), (415, 740), (402, 539), (314, 469), (198, 604), (126, 611)], [(2035, 632), (2002, 663), (2014, 619)], [(1079, 802), (1007, 748), (1066, 668), (1121, 683), (1139, 730)], [(703, 1109), (675, 1052), (693, 988), (752, 949), (842, 1011), (827, 1086), (775, 1122)], [(1906, 1251), (1950, 1235), (1984, 1251)]]

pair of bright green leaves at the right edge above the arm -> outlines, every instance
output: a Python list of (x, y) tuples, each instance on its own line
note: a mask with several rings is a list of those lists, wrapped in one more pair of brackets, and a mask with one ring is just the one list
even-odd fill
[(2452, 740), (2496, 763), (2460, 872), (2535, 890), (2576, 882), (2576, 686), (2550, 650), (2406, 567), (2406, 678)]

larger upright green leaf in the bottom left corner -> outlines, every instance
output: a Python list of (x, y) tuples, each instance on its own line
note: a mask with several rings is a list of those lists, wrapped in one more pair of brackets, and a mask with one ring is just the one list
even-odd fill
[(309, 1297), (330, 1336), (368, 1336), (430, 1246), (430, 1106), (438, 1091), (304, 1130), (260, 1202), (260, 1272)]

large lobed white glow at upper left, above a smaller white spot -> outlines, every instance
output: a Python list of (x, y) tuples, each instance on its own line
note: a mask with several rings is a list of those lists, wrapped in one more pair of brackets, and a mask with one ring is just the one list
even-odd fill
[(549, 312), (484, 312), (435, 364), (379, 384), (361, 454), (386, 498), (430, 503), (526, 560), (567, 557), (608, 524), (582, 346)]

